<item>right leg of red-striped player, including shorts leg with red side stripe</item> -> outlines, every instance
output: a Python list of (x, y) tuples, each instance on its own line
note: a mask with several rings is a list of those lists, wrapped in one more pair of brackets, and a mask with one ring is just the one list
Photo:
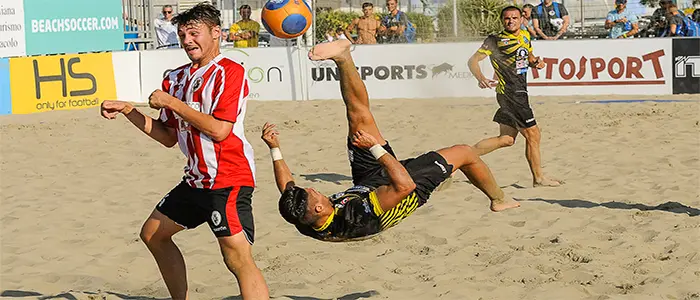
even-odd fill
[(212, 190), (202, 197), (202, 205), (211, 216), (207, 223), (217, 237), (226, 267), (238, 280), (243, 299), (269, 299), (267, 284), (252, 254), (252, 195), (252, 187)]

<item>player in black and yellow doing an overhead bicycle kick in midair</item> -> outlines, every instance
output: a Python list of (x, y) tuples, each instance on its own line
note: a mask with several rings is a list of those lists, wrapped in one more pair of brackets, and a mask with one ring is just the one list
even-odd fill
[(275, 125), (265, 124), (262, 139), (270, 147), (275, 181), (282, 193), (279, 211), (299, 232), (333, 242), (367, 238), (411, 215), (457, 170), (491, 199), (491, 210), (520, 206), (504, 195), (489, 168), (467, 145), (398, 161), (370, 112), (367, 90), (350, 56), (349, 41), (317, 45), (309, 52), (309, 58), (331, 59), (338, 66), (340, 91), (347, 109), (347, 147), (354, 186), (330, 197), (313, 188), (296, 186), (282, 159)]

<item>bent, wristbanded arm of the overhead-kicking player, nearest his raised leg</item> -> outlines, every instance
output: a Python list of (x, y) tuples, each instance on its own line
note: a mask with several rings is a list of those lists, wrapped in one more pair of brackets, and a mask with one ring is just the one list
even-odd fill
[(416, 189), (416, 183), (406, 168), (394, 156), (389, 154), (379, 145), (377, 139), (362, 130), (353, 135), (353, 145), (368, 149), (384, 168), (389, 177), (389, 185), (383, 185), (375, 191), (379, 206), (383, 211), (390, 210), (398, 205)]

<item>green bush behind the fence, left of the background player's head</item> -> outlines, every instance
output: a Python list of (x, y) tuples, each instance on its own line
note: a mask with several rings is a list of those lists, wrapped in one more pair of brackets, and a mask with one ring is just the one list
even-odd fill
[[(455, 0), (452, 0), (455, 1)], [(456, 0), (458, 38), (483, 37), (503, 30), (501, 10), (510, 5), (505, 0)], [(452, 37), (452, 2), (438, 10), (438, 34)]]

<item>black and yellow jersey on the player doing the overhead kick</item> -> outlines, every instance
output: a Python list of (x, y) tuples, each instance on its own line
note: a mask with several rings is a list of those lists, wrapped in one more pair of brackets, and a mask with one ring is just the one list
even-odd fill
[(376, 192), (365, 186), (354, 186), (329, 198), (333, 214), (320, 228), (297, 225), (301, 234), (327, 242), (366, 239), (398, 224), (420, 206), (418, 195), (412, 192), (394, 208), (383, 211)]

